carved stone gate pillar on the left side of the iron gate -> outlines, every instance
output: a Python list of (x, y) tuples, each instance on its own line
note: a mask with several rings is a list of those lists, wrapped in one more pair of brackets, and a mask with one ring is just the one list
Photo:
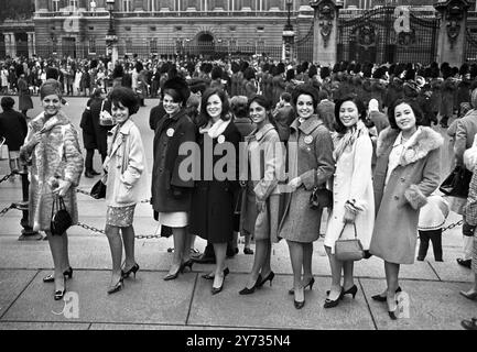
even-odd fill
[(343, 2), (316, 0), (310, 6), (315, 10), (313, 33), (313, 62), (334, 65), (337, 61), (338, 13)]

